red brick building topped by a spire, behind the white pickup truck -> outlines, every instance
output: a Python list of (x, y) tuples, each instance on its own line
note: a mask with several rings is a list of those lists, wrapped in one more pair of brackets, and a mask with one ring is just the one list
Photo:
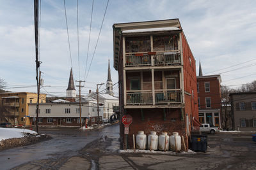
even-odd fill
[(221, 127), (221, 76), (202, 75), (201, 64), (197, 80), (199, 121)]

